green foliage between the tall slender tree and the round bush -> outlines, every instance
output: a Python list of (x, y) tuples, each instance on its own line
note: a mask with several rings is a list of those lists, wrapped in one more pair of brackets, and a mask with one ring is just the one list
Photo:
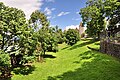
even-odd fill
[(55, 35), (55, 32), (52, 28), (48, 28), (48, 30), (41, 29), (39, 31), (39, 40), (41, 43), (41, 47), (44, 52), (46, 51), (57, 51), (57, 37)]

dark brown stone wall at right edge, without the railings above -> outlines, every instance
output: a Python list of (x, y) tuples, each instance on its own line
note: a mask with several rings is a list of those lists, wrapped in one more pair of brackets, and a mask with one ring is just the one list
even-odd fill
[(101, 41), (100, 51), (102, 53), (106, 53), (106, 54), (120, 58), (120, 43)]

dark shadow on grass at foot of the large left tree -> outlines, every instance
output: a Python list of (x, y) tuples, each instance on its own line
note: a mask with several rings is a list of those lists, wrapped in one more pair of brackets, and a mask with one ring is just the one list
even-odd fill
[(25, 66), (20, 66), (18, 68), (13, 69), (13, 72), (15, 74), (29, 75), (29, 74), (32, 74), (34, 70), (35, 70), (35, 66), (25, 65)]

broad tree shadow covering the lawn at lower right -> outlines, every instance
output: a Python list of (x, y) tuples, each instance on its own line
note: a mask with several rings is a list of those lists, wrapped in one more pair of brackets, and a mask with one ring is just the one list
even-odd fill
[(120, 80), (119, 61), (101, 56), (95, 51), (87, 51), (78, 57), (80, 60), (73, 62), (73, 64), (81, 64), (82, 66), (58, 76), (49, 76), (48, 80)]

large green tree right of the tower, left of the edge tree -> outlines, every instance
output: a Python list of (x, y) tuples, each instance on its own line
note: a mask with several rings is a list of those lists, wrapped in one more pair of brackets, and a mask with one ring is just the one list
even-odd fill
[(85, 8), (81, 9), (83, 22), (87, 24), (87, 33), (99, 39), (100, 32), (105, 29), (102, 0), (89, 0)]

